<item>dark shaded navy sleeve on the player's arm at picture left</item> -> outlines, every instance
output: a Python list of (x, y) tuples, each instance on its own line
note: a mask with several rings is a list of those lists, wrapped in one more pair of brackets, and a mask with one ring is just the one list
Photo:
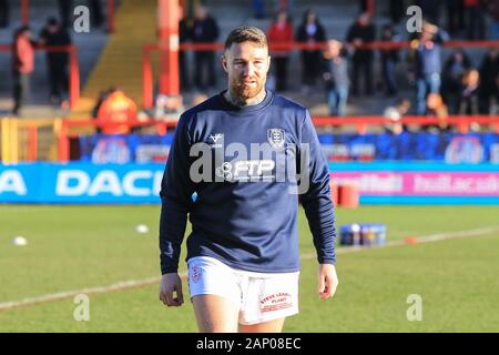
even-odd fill
[(190, 172), (190, 139), (186, 118), (182, 116), (175, 131), (161, 184), (160, 251), (162, 274), (179, 268), (187, 213), (192, 206), (194, 184)]

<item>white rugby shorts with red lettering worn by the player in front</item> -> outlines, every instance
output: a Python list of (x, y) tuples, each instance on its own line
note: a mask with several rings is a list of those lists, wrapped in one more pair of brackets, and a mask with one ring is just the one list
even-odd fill
[(226, 297), (240, 310), (240, 324), (258, 324), (298, 313), (299, 272), (254, 273), (208, 256), (192, 257), (187, 266), (191, 300), (206, 294)]

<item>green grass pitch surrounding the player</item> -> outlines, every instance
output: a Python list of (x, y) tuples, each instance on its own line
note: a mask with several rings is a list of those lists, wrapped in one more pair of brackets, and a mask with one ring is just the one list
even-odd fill
[[(159, 276), (160, 206), (0, 205), (0, 304)], [(499, 226), (498, 206), (361, 206), (337, 211), (337, 226), (378, 222), (387, 241)], [(145, 234), (135, 232), (146, 224)], [(303, 211), (301, 254), (314, 253)], [(12, 240), (23, 235), (28, 245)], [(185, 271), (184, 256), (181, 271)], [(499, 232), (339, 253), (334, 298), (317, 296), (317, 262), (302, 260), (301, 313), (285, 332), (499, 332)], [(184, 293), (187, 285), (184, 281)], [(0, 311), (0, 332), (196, 332), (187, 301), (167, 308), (157, 285), (90, 295), (90, 321), (73, 298)], [(407, 297), (422, 300), (410, 322)], [(189, 298), (189, 296), (186, 297)]]

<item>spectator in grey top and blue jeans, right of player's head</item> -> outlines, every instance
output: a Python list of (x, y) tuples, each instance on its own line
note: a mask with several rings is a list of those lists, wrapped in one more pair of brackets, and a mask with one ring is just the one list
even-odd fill
[(348, 100), (348, 53), (342, 42), (327, 41), (324, 51), (324, 79), (327, 89), (329, 114), (344, 116)]

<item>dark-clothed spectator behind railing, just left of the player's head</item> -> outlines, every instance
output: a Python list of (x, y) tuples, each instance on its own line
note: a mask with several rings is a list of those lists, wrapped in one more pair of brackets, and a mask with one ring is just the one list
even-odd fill
[[(207, 9), (197, 6), (195, 9), (194, 29), (192, 39), (194, 43), (214, 43), (218, 38), (218, 24)], [(195, 51), (195, 84), (201, 91), (216, 85), (215, 51)], [(204, 77), (207, 77), (205, 80)]]

